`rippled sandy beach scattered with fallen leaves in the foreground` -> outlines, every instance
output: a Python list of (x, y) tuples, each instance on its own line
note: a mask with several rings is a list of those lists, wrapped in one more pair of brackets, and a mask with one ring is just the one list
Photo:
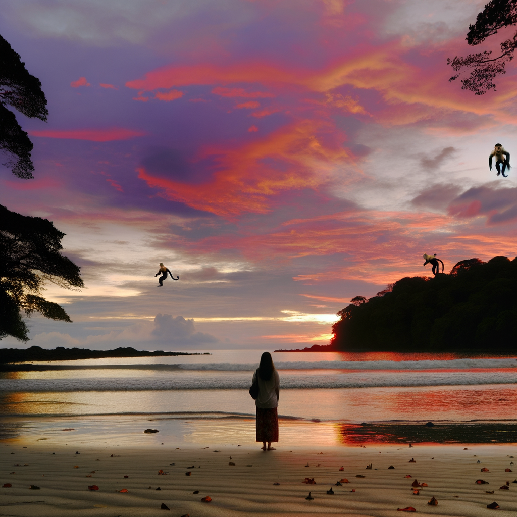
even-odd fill
[[(517, 447), (513, 445), (318, 448), (280, 444), (271, 452), (254, 444), (239, 445), (181, 444), (176, 449), (169, 444), (139, 448), (83, 444), (76, 454), (73, 443), (4, 442), (0, 486), (12, 486), (0, 489), (0, 515), (136, 517), (166, 514), (163, 503), (177, 517), (384, 516), (399, 515), (397, 509), (406, 507), (429, 515), (476, 516), (491, 514), (486, 505), (493, 501), (500, 506), (499, 513), (517, 512), (517, 483), (513, 483), (517, 466), (511, 465), (517, 465), (511, 458), (517, 457)], [(409, 463), (412, 458), (415, 463)], [(372, 469), (367, 469), (370, 464)], [(513, 472), (505, 472), (507, 468)], [(306, 478), (314, 478), (315, 484), (304, 483)], [(336, 485), (343, 478), (349, 482)], [(476, 484), (478, 479), (489, 484)], [(412, 486), (415, 480), (427, 483), (418, 495)], [(507, 482), (509, 490), (501, 490)], [(40, 490), (29, 489), (31, 485)], [(91, 491), (89, 485), (99, 490)], [(330, 488), (333, 495), (327, 494)], [(127, 492), (120, 492), (124, 489)], [(313, 500), (306, 499), (309, 492)], [(206, 496), (211, 498), (209, 503), (202, 501)], [(431, 497), (437, 506), (428, 505)]]

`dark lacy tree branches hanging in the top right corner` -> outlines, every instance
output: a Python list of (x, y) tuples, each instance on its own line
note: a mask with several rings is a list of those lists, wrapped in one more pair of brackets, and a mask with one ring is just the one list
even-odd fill
[[(474, 25), (469, 25), (466, 37), (469, 45), (479, 45), (486, 38), (497, 34), (504, 27), (517, 25), (517, 0), (491, 0), (480, 12)], [(469, 54), (466, 57), (447, 59), (447, 63), (455, 72), (462, 69), (470, 71), (469, 77), (462, 79), (462, 89), (470, 90), (476, 95), (483, 95), (494, 89), (494, 79), (499, 74), (506, 73), (505, 65), (513, 59), (513, 52), (517, 48), (517, 33), (512, 38), (500, 44), (500, 55), (492, 57), (492, 51)], [(454, 74), (449, 82), (455, 81), (461, 73)]]

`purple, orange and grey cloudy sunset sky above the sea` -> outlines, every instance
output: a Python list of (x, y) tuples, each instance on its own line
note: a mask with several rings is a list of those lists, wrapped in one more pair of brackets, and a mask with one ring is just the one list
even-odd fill
[(50, 115), (17, 113), (35, 179), (0, 167), (0, 204), (65, 232), (87, 287), (49, 285), (73, 323), (32, 317), (27, 346), (327, 344), (423, 253), (513, 258), (517, 169), (488, 156), (517, 158), (514, 62), (483, 96), (448, 82), (506, 39), (466, 44), (485, 2), (4, 0)]

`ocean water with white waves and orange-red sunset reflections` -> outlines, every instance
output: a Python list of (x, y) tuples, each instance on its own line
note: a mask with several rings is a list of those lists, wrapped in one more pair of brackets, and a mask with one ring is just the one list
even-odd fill
[[(38, 364), (58, 369), (1, 373), (0, 438), (54, 439), (73, 428), (67, 436), (84, 440), (117, 436), (127, 442), (138, 435), (149, 443), (253, 442), (255, 408), (248, 389), (262, 352), (53, 361)], [(304, 443), (309, 433), (328, 444), (433, 442), (440, 429), (440, 443), (517, 442), (516, 357), (272, 356), (281, 382), (281, 440)], [(422, 434), (428, 421), (434, 431), (428, 426)], [(142, 438), (144, 422), (159, 423), (160, 434)]]

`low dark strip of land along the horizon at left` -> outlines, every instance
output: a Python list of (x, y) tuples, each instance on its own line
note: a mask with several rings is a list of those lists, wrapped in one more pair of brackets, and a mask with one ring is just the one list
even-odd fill
[[(23, 361), (73, 361), (77, 359), (100, 359), (104, 357), (160, 357), (160, 356), (179, 356), (179, 355), (210, 355), (208, 352), (204, 354), (188, 352), (163, 352), (163, 350), (155, 350), (154, 352), (139, 352), (130, 346), (118, 347), (114, 350), (89, 350), (88, 348), (65, 348), (57, 346), (54, 350), (41, 348), (40, 346), (31, 346), (30, 348), (4, 348), (2, 350), (0, 371), (20, 371), (20, 370), (54, 370), (68, 369), (69, 366), (48, 365), (48, 364), (11, 364), (6, 363), (23, 362)], [(133, 366), (134, 367), (134, 366)], [(77, 367), (76, 367), (77, 368)]]

